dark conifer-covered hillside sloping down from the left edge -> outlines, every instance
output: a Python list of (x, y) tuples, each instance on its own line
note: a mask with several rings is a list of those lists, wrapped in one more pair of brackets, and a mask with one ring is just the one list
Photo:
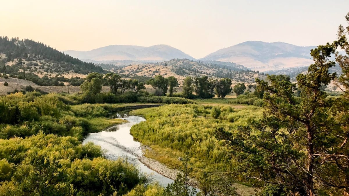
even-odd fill
[(103, 73), (101, 66), (83, 62), (43, 43), (0, 36), (0, 76), (32, 81), (38, 85), (80, 85), (84, 75)]

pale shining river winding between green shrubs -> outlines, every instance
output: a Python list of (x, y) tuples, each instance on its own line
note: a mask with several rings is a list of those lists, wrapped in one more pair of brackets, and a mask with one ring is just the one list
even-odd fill
[(105, 156), (108, 159), (127, 159), (127, 162), (135, 165), (141, 172), (149, 175), (150, 180), (158, 181), (163, 187), (172, 183), (173, 180), (149, 169), (139, 161), (139, 158), (143, 156), (141, 143), (133, 140), (130, 129), (132, 125), (145, 121), (146, 119), (140, 116), (122, 116), (123, 117), (120, 117), (120, 119), (127, 120), (128, 123), (115, 125), (102, 132), (91, 133), (84, 139), (83, 144), (93, 142), (101, 146), (102, 149), (106, 151)]

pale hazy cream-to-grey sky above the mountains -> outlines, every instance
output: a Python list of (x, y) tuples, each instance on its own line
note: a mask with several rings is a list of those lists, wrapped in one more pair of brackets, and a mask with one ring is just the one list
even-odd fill
[(247, 40), (331, 42), (349, 0), (4, 0), (0, 35), (57, 50), (167, 44), (194, 58)]

